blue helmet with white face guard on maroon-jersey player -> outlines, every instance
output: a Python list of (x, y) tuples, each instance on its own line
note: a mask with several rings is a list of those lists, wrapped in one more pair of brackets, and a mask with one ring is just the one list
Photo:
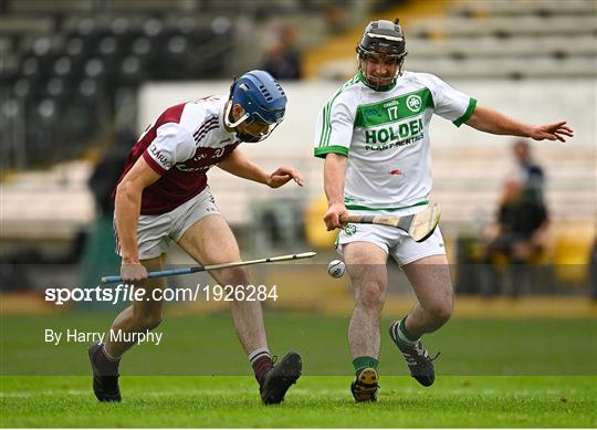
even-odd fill
[[(229, 128), (237, 128), (241, 124), (250, 125), (255, 122), (268, 125), (268, 128), (259, 135), (253, 135), (247, 130), (237, 130), (237, 135), (242, 141), (261, 141), (270, 136), (284, 119), (286, 101), (284, 90), (268, 72), (248, 72), (238, 81), (235, 80), (230, 87), (224, 124)], [(243, 112), (240, 118), (233, 120), (231, 112), (232, 106), (235, 104), (241, 105)]]

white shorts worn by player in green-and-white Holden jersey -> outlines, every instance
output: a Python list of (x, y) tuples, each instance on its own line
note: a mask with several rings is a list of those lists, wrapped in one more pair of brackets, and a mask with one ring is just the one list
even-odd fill
[(343, 255), (343, 245), (352, 242), (368, 242), (381, 248), (402, 266), (430, 255), (446, 255), (439, 226), (426, 241), (415, 242), (406, 231), (395, 227), (374, 224), (348, 224), (341, 230), (336, 249)]

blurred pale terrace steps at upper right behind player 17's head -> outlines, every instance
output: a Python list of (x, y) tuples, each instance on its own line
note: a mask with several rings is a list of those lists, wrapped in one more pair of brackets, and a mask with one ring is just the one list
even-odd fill
[[(436, 9), (442, 8), (439, 15), (402, 19), (409, 70), (444, 78), (597, 75), (597, 4), (591, 0), (458, 1)], [(346, 42), (338, 43), (343, 38)], [(338, 46), (347, 52), (353, 40), (353, 34), (338, 36), (328, 45), (334, 52)], [(328, 64), (316, 71), (306, 69), (324, 77), (346, 77), (355, 61), (343, 56), (331, 55)]]

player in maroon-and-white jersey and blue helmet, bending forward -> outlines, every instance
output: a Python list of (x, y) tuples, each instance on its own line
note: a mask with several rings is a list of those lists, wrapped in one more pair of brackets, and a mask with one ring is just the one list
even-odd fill
[[(232, 84), (228, 97), (206, 97), (169, 107), (130, 150), (114, 195), (116, 252), (123, 259), (123, 282), (144, 287), (146, 295), (116, 317), (105, 343), (88, 349), (93, 389), (100, 401), (121, 401), (118, 364), (134, 345), (126, 339), (134, 338), (130, 334), (154, 329), (161, 322), (163, 300), (150, 292), (164, 289), (165, 282), (147, 279), (147, 271), (164, 268), (170, 242), (177, 242), (199, 264), (241, 261), (234, 235), (207, 185), (207, 171), (218, 166), (271, 188), (290, 180), (303, 186), (296, 169), (280, 167), (269, 174), (238, 148), (241, 143), (266, 138), (284, 118), (285, 107), (286, 95), (280, 84), (266, 72), (251, 71)], [(210, 274), (220, 285), (252, 285), (244, 268)], [(289, 353), (274, 366), (261, 303), (234, 300), (230, 306), (262, 401), (281, 402), (301, 376), (301, 356)], [(206, 345), (205, 354), (219, 352)]]

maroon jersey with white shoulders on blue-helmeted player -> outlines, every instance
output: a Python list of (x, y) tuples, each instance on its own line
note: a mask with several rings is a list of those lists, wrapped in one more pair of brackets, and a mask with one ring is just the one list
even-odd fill
[(223, 126), (224, 96), (210, 96), (164, 111), (128, 154), (118, 182), (143, 156), (159, 175), (143, 191), (142, 214), (166, 213), (207, 187), (207, 171), (240, 144)]

